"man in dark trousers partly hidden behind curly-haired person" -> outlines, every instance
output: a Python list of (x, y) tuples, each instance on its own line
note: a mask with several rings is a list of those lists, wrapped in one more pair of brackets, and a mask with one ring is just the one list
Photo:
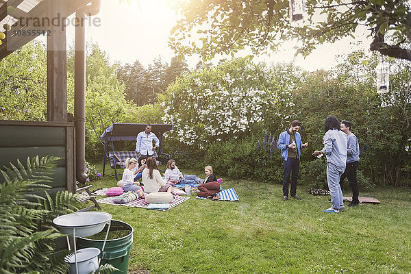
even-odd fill
[(343, 175), (340, 177), (340, 185), (347, 177), (349, 186), (353, 190), (353, 199), (348, 206), (358, 206), (360, 201), (358, 200), (358, 182), (357, 182), (357, 169), (360, 164), (360, 145), (358, 145), (357, 137), (351, 132), (353, 124), (349, 121), (343, 120), (341, 122), (340, 129), (347, 134), (347, 163)]

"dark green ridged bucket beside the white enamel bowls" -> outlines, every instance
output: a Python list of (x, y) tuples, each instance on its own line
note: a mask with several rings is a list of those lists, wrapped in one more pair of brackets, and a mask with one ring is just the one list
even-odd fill
[[(97, 235), (77, 238), (77, 247), (79, 249), (97, 247), (101, 250), (107, 228), (108, 225), (105, 225), (103, 231)], [(133, 245), (133, 231), (133, 227), (128, 223), (118, 220), (111, 221), (108, 240), (105, 242), (100, 264), (108, 263), (120, 270), (114, 274), (127, 274), (130, 250)]]

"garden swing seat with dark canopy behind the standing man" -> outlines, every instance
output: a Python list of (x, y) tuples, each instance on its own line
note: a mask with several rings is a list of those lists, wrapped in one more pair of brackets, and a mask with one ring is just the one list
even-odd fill
[[(101, 134), (101, 142), (104, 142), (104, 162), (103, 162), (103, 176), (107, 175), (118, 179), (117, 169), (125, 169), (126, 158), (140, 157), (140, 153), (137, 151), (114, 151), (114, 141), (136, 141), (137, 135), (140, 132), (145, 131), (147, 124), (133, 124), (133, 123), (114, 123), (110, 125), (103, 134)], [(155, 134), (160, 140), (160, 147), (158, 151), (154, 152), (154, 157), (160, 162), (160, 164), (166, 164), (170, 160), (170, 155), (163, 153), (162, 151), (162, 139), (164, 132), (173, 130), (173, 125), (170, 124), (151, 124), (151, 132)], [(111, 144), (111, 147), (110, 147)], [(110, 166), (114, 169), (114, 175), (105, 173), (105, 163), (110, 162)]]

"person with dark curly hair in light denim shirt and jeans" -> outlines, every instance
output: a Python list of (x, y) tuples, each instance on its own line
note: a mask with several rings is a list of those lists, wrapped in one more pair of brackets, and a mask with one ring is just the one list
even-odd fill
[(314, 151), (312, 155), (327, 156), (327, 184), (331, 194), (332, 207), (323, 212), (340, 213), (345, 210), (340, 177), (345, 171), (347, 162), (347, 134), (340, 131), (340, 121), (335, 116), (328, 116), (324, 122), (324, 148)]

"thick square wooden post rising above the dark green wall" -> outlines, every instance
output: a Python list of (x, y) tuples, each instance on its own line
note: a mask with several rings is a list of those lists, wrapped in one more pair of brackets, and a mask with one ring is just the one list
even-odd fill
[[(66, 14), (66, 0), (49, 0), (49, 18)], [(63, 20), (64, 18), (62, 18)], [(49, 26), (47, 36), (47, 121), (67, 121), (66, 27)]]

